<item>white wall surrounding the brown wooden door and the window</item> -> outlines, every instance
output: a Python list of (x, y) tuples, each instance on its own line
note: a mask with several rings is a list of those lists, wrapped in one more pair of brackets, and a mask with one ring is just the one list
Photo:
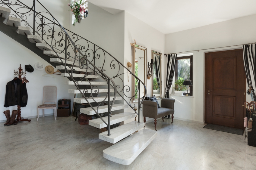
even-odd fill
[[(255, 20), (256, 15), (250, 15), (167, 34), (165, 39), (165, 53), (253, 43), (256, 40)], [(176, 99), (174, 114), (176, 119), (186, 119), (201, 123), (204, 122), (204, 54), (206, 52), (222, 51), (235, 48), (242, 48), (242, 46), (193, 52), (194, 97), (172, 96)], [(165, 62), (166, 58), (163, 57), (163, 63)], [(165, 72), (163, 72), (163, 77), (166, 77)], [(248, 95), (247, 100), (250, 100)]]

